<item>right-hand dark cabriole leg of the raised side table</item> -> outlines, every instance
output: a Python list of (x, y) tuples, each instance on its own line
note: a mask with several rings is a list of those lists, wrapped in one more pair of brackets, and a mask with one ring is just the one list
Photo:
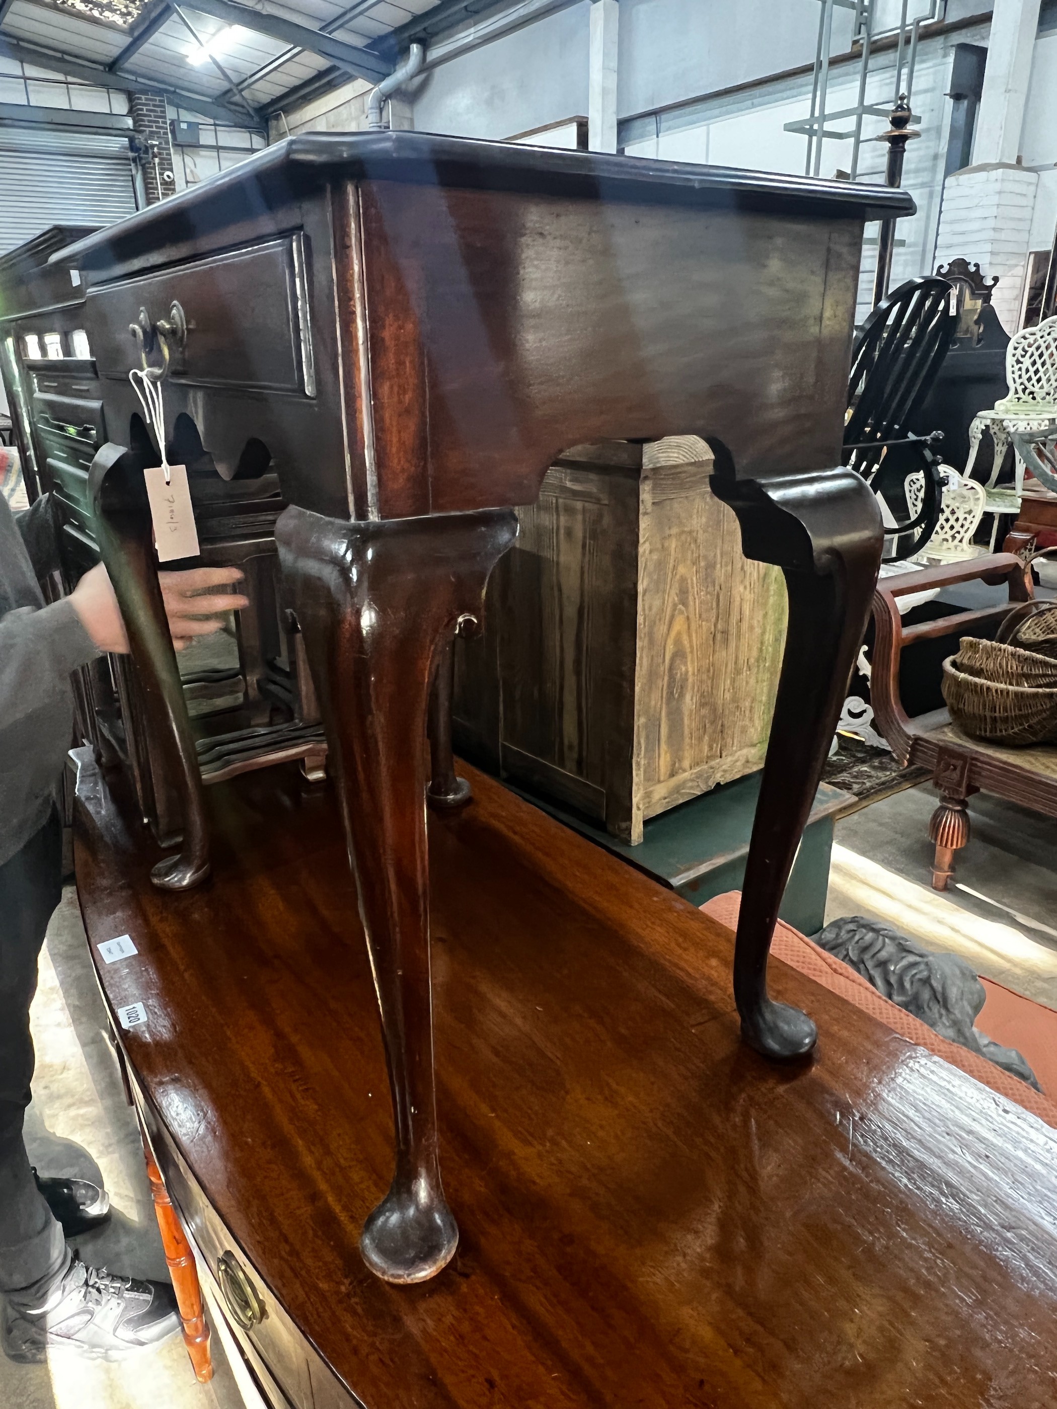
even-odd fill
[(744, 1040), (765, 1057), (803, 1057), (815, 1023), (767, 992), (785, 883), (808, 823), (855, 655), (884, 542), (877, 500), (851, 471), (767, 482), (713, 476), (737, 513), (746, 557), (782, 568), (789, 627), (760, 783), (734, 948)]

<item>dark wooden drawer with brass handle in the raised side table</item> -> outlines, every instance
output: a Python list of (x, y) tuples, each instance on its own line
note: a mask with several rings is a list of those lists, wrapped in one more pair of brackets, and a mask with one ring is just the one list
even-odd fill
[[(171, 344), (173, 382), (316, 395), (300, 234), (92, 289), (99, 373), (127, 378), (140, 366), (130, 324), (144, 309), (156, 327), (173, 303), (187, 328), (182, 349)], [(158, 351), (151, 361), (161, 362)]]

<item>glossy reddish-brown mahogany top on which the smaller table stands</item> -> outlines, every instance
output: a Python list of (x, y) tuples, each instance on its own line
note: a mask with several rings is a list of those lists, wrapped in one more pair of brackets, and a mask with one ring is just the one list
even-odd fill
[[(142, 1089), (276, 1298), (369, 1406), (1057, 1402), (1057, 1137), (781, 962), (808, 1065), (738, 1041), (733, 937), (493, 781), (430, 821), (441, 1157), (461, 1227), (396, 1288), (371, 974), (328, 789), (210, 788), (214, 878), (80, 751), (76, 868)], [(116, 782), (116, 789), (120, 786)]]

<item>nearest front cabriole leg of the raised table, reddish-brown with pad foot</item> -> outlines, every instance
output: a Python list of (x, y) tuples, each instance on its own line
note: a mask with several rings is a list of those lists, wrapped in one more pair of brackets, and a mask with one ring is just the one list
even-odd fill
[(478, 614), (513, 510), (345, 523), (290, 507), (276, 542), (341, 799), (382, 1017), (396, 1172), (361, 1251), (389, 1282), (458, 1241), (437, 1150), (426, 841), (426, 714), (441, 643)]

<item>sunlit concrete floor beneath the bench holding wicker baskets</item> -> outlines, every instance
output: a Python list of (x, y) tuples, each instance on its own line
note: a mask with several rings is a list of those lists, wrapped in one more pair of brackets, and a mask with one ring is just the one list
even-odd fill
[(1057, 823), (999, 797), (970, 799), (970, 843), (946, 892), (932, 889), (930, 783), (836, 827), (826, 921), (886, 920), (927, 948), (1057, 1007)]

